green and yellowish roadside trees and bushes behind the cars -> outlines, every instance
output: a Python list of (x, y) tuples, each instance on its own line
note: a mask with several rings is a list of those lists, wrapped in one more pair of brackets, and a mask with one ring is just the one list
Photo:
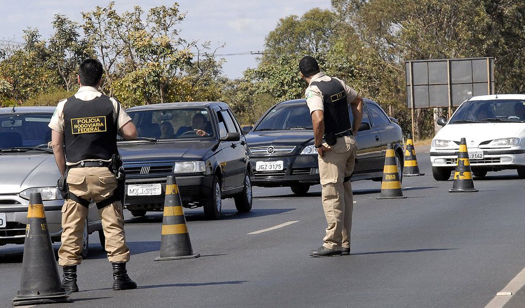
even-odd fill
[[(224, 101), (240, 122), (254, 123), (271, 105), (300, 98), (297, 63), (316, 57), (323, 71), (380, 103), (411, 131), (404, 62), (495, 57), (496, 89), (523, 93), (525, 2), (504, 0), (332, 0), (282, 18), (265, 40), (256, 68), (222, 76), (222, 46), (183, 40), (177, 3), (117, 12), (111, 2), (82, 12), (82, 22), (56, 15), (55, 33), (24, 31), (22, 45), (0, 45), (0, 106), (50, 105), (77, 90), (86, 57), (104, 65), (102, 91), (125, 107), (177, 101)], [(443, 111), (445, 112), (445, 111)], [(434, 134), (432, 109), (417, 109), (416, 140)]]

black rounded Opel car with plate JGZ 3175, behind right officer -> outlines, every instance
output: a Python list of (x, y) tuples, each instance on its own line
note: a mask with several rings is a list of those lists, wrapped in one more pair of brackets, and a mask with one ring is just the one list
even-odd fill
[[(352, 181), (381, 181), (386, 146), (393, 144), (400, 179), (403, 175), (404, 140), (397, 120), (388, 117), (374, 101), (364, 99), (363, 120), (356, 134), (358, 158)], [(349, 113), (352, 117), (349, 106)], [(257, 121), (244, 127), (250, 152), (253, 185), (285, 186), (306, 194), (319, 184), (318, 153), (313, 147), (313, 128), (306, 100), (276, 104)]]

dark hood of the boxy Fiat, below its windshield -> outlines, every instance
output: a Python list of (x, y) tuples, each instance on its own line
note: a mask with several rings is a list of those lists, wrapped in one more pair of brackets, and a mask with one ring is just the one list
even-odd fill
[(184, 140), (184, 141), (123, 141), (118, 143), (122, 161), (154, 162), (202, 160), (216, 144), (216, 140)]

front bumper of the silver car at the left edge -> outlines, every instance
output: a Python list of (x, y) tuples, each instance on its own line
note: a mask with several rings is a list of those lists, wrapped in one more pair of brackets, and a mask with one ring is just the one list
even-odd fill
[[(60, 240), (62, 232), (61, 210), (64, 200), (44, 201), (49, 234), (53, 241)], [(0, 228), (0, 245), (24, 244), (29, 201), (14, 194), (0, 195), (0, 213), (5, 213), (7, 226)]]

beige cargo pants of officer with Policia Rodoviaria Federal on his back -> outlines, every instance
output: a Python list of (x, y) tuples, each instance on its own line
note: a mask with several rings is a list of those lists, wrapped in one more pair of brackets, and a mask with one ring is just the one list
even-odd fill
[[(106, 167), (71, 168), (66, 179), (69, 191), (82, 199), (95, 202), (107, 199), (117, 188), (117, 180)], [(82, 234), (88, 208), (66, 199), (62, 206), (62, 245), (58, 250), (60, 266), (80, 264)], [(130, 251), (125, 244), (122, 204), (114, 202), (99, 210), (106, 236), (106, 251), (110, 262), (128, 262)]]

